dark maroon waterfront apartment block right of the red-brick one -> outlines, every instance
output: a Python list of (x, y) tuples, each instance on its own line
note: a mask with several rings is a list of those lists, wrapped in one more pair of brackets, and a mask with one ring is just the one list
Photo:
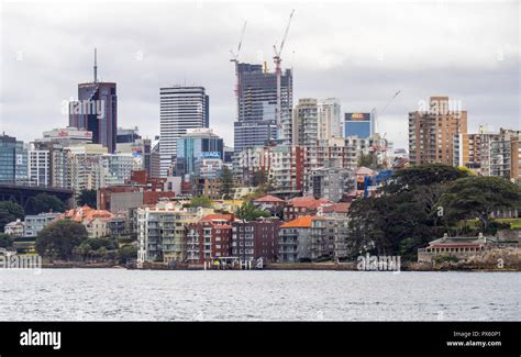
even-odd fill
[(278, 254), (278, 228), (280, 220), (232, 222), (232, 256), (242, 261), (263, 259), (276, 261)]

